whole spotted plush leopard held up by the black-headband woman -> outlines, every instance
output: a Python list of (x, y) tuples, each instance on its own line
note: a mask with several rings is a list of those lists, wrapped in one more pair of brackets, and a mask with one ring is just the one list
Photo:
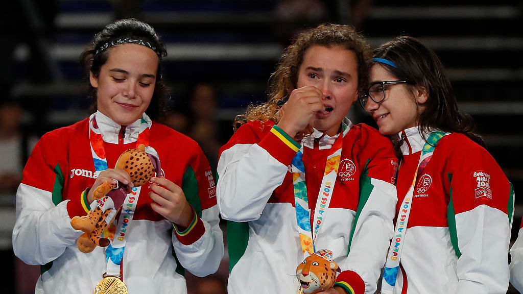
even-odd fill
[[(156, 151), (140, 144), (137, 149), (124, 151), (116, 162), (115, 168), (121, 168), (129, 173), (134, 187), (147, 183), (155, 174), (160, 174), (160, 158)], [(93, 202), (86, 216), (74, 217), (71, 225), (75, 230), (84, 233), (78, 238), (78, 250), (89, 253), (96, 246), (106, 247), (110, 241), (103, 238), (102, 234), (112, 222), (117, 212), (123, 205), (130, 188), (122, 183), (110, 184), (108, 181), (98, 186), (93, 191)]]

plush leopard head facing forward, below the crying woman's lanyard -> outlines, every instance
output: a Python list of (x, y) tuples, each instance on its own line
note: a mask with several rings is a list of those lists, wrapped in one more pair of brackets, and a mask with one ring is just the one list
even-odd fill
[(305, 258), (296, 268), (300, 281), (300, 293), (314, 294), (334, 287), (338, 265), (332, 259), (332, 251), (319, 250)]

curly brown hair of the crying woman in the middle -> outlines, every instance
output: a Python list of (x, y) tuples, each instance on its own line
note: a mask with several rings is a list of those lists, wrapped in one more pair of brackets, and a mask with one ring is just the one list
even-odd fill
[(300, 32), (289, 47), (280, 56), (276, 71), (269, 77), (268, 102), (261, 105), (249, 105), (244, 115), (234, 119), (234, 130), (248, 121), (274, 121), (277, 112), (291, 92), (297, 88), (298, 72), (305, 52), (312, 46), (327, 48), (341, 46), (356, 54), (358, 62), (358, 89), (367, 87), (372, 51), (367, 40), (354, 27), (347, 25), (322, 24), (316, 28)]

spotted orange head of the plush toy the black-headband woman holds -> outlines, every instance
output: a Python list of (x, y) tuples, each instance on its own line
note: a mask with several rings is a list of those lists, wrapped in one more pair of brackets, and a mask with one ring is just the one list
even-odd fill
[(138, 149), (123, 152), (118, 157), (115, 167), (127, 171), (135, 187), (147, 183), (156, 172), (155, 164), (151, 161), (150, 155), (145, 152), (143, 144), (140, 144)]

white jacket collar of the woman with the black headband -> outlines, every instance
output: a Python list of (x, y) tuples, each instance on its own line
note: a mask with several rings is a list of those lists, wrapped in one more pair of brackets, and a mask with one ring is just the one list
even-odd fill
[[(118, 144), (118, 136), (122, 126), (118, 125), (118, 123), (114, 122), (100, 111), (96, 111), (94, 115), (96, 117), (98, 128), (101, 132), (101, 138), (107, 143)], [(152, 121), (149, 116), (144, 113), (142, 118), (147, 122), (147, 125), (151, 127)], [(138, 140), (142, 118), (131, 123), (131, 125), (126, 126), (126, 133), (123, 137), (124, 144), (129, 144)]]

